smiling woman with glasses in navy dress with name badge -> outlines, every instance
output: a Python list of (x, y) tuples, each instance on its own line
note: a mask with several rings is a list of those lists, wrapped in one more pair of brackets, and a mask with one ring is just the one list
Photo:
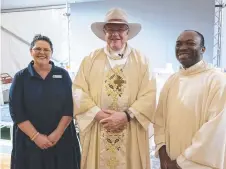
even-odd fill
[(50, 61), (53, 45), (34, 37), (33, 61), (16, 73), (10, 89), (14, 122), (11, 169), (79, 169), (80, 147), (72, 120), (72, 82)]

